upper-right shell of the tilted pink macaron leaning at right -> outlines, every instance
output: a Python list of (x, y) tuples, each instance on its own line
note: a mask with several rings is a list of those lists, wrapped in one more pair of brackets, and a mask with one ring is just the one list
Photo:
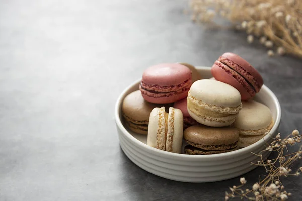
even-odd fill
[(228, 65), (241, 74), (250, 84), (255, 88), (256, 92), (259, 92), (263, 79), (258, 71), (249, 64), (246, 60), (238, 56), (237, 54), (226, 52), (218, 59), (218, 61)]

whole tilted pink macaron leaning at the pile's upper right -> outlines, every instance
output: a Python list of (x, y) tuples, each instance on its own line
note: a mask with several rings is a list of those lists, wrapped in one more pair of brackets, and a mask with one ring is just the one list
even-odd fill
[(249, 100), (258, 93), (263, 79), (251, 64), (234, 53), (224, 53), (211, 69), (216, 80), (230, 84), (241, 94), (242, 100)]

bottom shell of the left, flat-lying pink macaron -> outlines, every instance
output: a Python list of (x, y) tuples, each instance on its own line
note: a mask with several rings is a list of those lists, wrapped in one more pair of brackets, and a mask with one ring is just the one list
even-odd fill
[(176, 102), (177, 100), (187, 97), (188, 91), (189, 91), (189, 88), (188, 88), (187, 90), (184, 90), (181, 93), (174, 93), (174, 94), (166, 95), (166, 94), (161, 94), (161, 93), (151, 93), (149, 91), (142, 89), (141, 86), (139, 87), (139, 89), (141, 91), (142, 97), (147, 102), (155, 103), (155, 104), (168, 104), (168, 103)]

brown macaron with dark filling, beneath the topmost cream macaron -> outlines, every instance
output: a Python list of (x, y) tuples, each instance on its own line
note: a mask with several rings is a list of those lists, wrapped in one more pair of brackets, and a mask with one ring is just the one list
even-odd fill
[[(187, 147), (187, 154), (216, 154), (236, 149), (239, 131), (232, 127), (194, 125), (184, 131), (183, 137), (189, 145), (195, 147), (195, 151), (188, 151), (190, 147)], [(201, 150), (197, 152), (196, 148)]]

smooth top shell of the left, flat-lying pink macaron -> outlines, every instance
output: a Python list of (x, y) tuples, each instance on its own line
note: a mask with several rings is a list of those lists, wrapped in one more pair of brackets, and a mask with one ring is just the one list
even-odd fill
[(163, 63), (147, 68), (142, 74), (146, 84), (160, 86), (178, 85), (192, 79), (191, 70), (179, 63)]

